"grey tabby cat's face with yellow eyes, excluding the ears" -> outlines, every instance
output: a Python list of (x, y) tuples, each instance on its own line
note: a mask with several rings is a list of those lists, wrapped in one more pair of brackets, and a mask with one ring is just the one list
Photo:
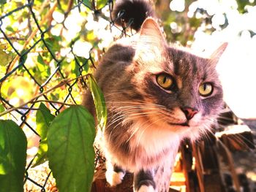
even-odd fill
[[(222, 86), (214, 64), (206, 58), (166, 48), (165, 62), (154, 67), (135, 64), (132, 78), (142, 118), (196, 139), (214, 123), (222, 108)], [(136, 70), (137, 68), (137, 70)]]

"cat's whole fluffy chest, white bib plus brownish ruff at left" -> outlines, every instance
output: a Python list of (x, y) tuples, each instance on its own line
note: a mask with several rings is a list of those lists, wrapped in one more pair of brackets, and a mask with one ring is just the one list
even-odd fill
[[(142, 126), (143, 125), (143, 126)], [(120, 134), (120, 130), (126, 133)], [(105, 147), (114, 164), (127, 170), (159, 166), (167, 159), (174, 161), (180, 144), (177, 134), (158, 126), (133, 123), (129, 128), (111, 128), (105, 134)]]

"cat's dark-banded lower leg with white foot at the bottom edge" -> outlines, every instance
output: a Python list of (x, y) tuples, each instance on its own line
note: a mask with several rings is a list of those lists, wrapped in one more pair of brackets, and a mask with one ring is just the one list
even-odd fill
[(134, 191), (136, 192), (155, 192), (156, 183), (154, 182), (154, 171), (140, 170), (134, 173)]

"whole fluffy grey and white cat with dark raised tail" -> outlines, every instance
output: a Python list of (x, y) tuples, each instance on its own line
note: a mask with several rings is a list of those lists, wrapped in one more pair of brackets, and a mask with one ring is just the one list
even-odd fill
[[(118, 185), (132, 172), (134, 191), (168, 191), (181, 141), (204, 135), (222, 110), (215, 66), (227, 43), (210, 58), (169, 46), (148, 1), (116, 1), (113, 18), (134, 18), (138, 34), (114, 42), (94, 74), (108, 110), (106, 179)], [(91, 93), (83, 105), (96, 116)]]

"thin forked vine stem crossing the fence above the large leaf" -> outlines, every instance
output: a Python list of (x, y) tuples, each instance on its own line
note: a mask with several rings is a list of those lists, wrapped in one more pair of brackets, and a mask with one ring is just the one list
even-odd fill
[[(53, 88), (50, 88), (50, 89), (47, 90), (47, 91), (44, 91), (44, 92), (42, 92), (42, 93), (39, 93), (39, 95), (34, 96), (34, 98), (30, 99), (29, 101), (27, 101), (27, 102), (24, 103), (24, 104), (21, 104), (19, 107), (11, 107), (11, 108), (5, 110), (4, 112), (1, 112), (1, 113), (0, 113), (0, 117), (3, 116), (3, 115), (6, 115), (7, 113), (10, 113), (10, 112), (12, 112), (12, 111), (14, 111), (14, 110), (18, 110), (18, 109), (20, 109), (20, 108), (23, 108), (23, 107), (25, 107), (27, 104), (36, 103), (36, 102), (39, 102), (39, 101), (48, 101), (48, 100), (38, 100), (38, 101), (34, 101), (34, 100), (38, 99), (40, 96), (43, 96), (43, 95), (46, 94), (46, 93), (49, 93), (50, 91), (55, 90), (56, 88), (60, 88), (61, 86), (67, 84), (68, 82), (71, 82), (71, 81), (73, 81), (73, 80), (78, 80), (78, 79), (83, 78), (83, 77), (87, 77), (88, 75), (90, 75), (90, 74), (85, 74), (85, 75), (83, 75), (83, 76), (76, 77), (75, 79), (72, 79), (72, 80), (64, 79), (64, 80), (62, 80), (61, 82), (59, 82), (57, 85), (55, 85)], [(48, 101), (48, 102), (55, 102), (55, 103), (58, 103), (58, 104), (64, 104), (63, 102), (60, 102), (60, 101)], [(66, 105), (73, 105), (73, 104), (66, 104)]]

